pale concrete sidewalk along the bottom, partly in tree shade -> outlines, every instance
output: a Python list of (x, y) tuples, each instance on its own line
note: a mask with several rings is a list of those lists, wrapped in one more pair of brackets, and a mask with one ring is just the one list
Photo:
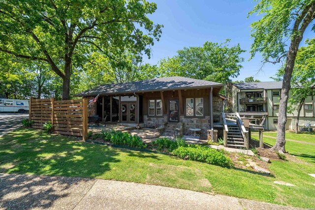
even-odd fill
[(0, 210), (291, 210), (223, 195), (99, 179), (0, 174)]

